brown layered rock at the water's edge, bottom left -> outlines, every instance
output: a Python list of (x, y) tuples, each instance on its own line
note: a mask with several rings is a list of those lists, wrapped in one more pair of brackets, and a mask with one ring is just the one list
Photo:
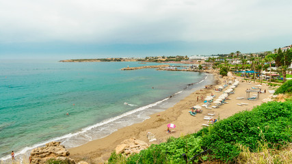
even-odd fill
[(31, 150), (30, 160), (33, 164), (46, 163), (49, 160), (64, 161), (68, 164), (75, 164), (75, 161), (68, 158), (68, 150), (62, 146), (60, 142), (52, 141), (47, 143), (43, 148), (35, 148)]

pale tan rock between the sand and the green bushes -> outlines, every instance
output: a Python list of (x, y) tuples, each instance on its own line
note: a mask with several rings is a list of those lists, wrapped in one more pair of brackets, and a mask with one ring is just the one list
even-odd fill
[(116, 147), (116, 154), (124, 154), (129, 156), (133, 153), (139, 153), (141, 150), (148, 147), (149, 145), (146, 142), (137, 140), (135, 137), (131, 137), (130, 139), (122, 141), (120, 145)]

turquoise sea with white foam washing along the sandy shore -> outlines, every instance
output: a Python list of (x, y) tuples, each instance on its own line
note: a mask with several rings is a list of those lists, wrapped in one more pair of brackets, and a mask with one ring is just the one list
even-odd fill
[(22, 162), (49, 141), (73, 148), (106, 137), (213, 83), (204, 72), (120, 70), (145, 65), (159, 64), (0, 61), (0, 160), (14, 150)]

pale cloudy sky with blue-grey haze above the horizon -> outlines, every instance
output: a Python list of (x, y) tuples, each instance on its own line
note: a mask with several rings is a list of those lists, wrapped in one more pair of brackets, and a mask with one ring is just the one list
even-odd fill
[(292, 44), (291, 0), (0, 0), (0, 59), (272, 51)]

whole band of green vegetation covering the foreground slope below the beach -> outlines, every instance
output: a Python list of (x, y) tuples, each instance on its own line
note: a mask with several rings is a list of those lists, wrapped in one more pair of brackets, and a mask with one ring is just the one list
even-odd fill
[(198, 133), (152, 145), (128, 159), (113, 153), (109, 163), (186, 163), (183, 153), (191, 159), (206, 149), (210, 149), (209, 154), (198, 156), (194, 161), (235, 163), (246, 160), (247, 153), (280, 150), (292, 142), (291, 109), (292, 101), (264, 103), (252, 111), (242, 111), (202, 128)]

